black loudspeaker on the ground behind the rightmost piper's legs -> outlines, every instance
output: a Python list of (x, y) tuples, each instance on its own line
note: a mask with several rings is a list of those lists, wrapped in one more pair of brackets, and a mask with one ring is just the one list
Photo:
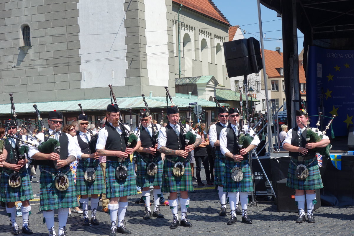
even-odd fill
[[(295, 201), (295, 189), (288, 188), (286, 186), (286, 180), (282, 179), (275, 182), (275, 194), (276, 194), (276, 208), (278, 212), (298, 212), (298, 208)], [(320, 190), (315, 190), (316, 201), (314, 210), (321, 206)], [(305, 195), (306, 196), (306, 195)], [(306, 200), (307, 201), (307, 200)], [(307, 204), (305, 202), (305, 212), (307, 212)]]

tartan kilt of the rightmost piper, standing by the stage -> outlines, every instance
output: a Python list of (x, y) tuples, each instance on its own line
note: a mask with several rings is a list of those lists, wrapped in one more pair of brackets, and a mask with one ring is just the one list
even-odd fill
[[(291, 157), (291, 160), (295, 163), (295, 165), (292, 163), (292, 161), (290, 161), (288, 178), (286, 181), (287, 187), (292, 189), (299, 189), (299, 190), (314, 190), (314, 189), (323, 188), (323, 183), (321, 179), (320, 169), (318, 168), (317, 158), (309, 166), (307, 165), (311, 161), (313, 161), (313, 159), (305, 160), (305, 163), (303, 163), (302, 161), (298, 161), (296, 158), (293, 157)], [(304, 180), (296, 178), (296, 167), (300, 164), (305, 165), (309, 171), (309, 176)]]

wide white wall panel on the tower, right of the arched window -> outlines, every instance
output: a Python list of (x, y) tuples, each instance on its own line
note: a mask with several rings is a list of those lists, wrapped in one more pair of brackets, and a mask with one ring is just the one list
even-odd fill
[(124, 86), (127, 62), (123, 1), (85, 0), (79, 1), (78, 8), (81, 88)]

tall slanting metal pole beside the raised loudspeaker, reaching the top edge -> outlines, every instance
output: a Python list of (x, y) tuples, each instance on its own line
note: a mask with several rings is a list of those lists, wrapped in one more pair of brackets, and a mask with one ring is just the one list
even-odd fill
[[(259, 23), (259, 37), (261, 38), (261, 51), (262, 51), (262, 63), (263, 63), (263, 80), (264, 80), (264, 90), (265, 90), (265, 104), (267, 106), (267, 111), (269, 108), (269, 98), (268, 98), (268, 88), (267, 88), (267, 73), (265, 73), (265, 60), (264, 60), (264, 45), (263, 45), (263, 29), (262, 29), (262, 16), (261, 16), (261, 3), (257, 0), (258, 7), (258, 23)], [(273, 140), (272, 140), (272, 125), (270, 123), (270, 112), (267, 114), (268, 119), (268, 142), (269, 142), (269, 152), (273, 152)]]

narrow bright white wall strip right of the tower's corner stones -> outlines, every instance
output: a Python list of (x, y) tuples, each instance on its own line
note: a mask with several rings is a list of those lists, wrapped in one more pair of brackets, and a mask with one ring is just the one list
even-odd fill
[(165, 0), (145, 0), (144, 3), (147, 68), (150, 85), (167, 86), (169, 80), (169, 51), (167, 50), (167, 8)]

